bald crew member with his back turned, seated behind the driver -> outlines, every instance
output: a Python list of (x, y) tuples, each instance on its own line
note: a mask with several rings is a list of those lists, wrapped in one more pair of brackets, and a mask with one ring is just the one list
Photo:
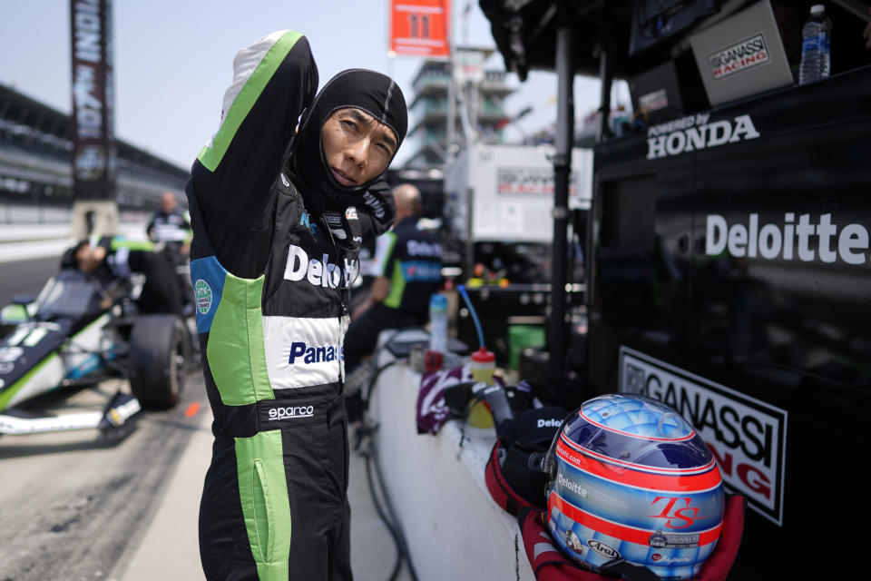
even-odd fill
[(376, 241), (376, 279), (354, 310), (345, 337), (345, 365), (354, 369), (377, 344), (378, 334), (426, 323), (429, 298), (442, 281), (442, 246), (422, 229), (420, 192), (409, 183), (393, 190), (396, 225)]

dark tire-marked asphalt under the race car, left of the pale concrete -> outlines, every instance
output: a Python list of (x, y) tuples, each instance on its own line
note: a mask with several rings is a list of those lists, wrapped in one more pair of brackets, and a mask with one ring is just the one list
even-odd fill
[[(44, 272), (27, 267), (34, 262), (5, 263), (4, 280), (39, 279), (38, 290), (56, 259), (42, 261)], [(142, 413), (118, 443), (100, 440), (96, 429), (0, 437), (0, 581), (92, 581), (123, 570), (122, 559), (144, 534), (182, 450), (203, 429), (208, 406), (201, 377), (192, 370), (179, 405)], [(102, 409), (117, 389), (129, 388), (112, 379), (44, 396), (29, 408)]]

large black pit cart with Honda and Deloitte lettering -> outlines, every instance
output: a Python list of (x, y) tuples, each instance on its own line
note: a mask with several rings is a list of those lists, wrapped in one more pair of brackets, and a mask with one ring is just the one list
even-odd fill
[(871, 3), (824, 3), (831, 75), (799, 85), (813, 4), (481, 2), (521, 74), (599, 76), (602, 111), (629, 84), (594, 146), (573, 394), (700, 431), (749, 501), (732, 579), (856, 575), (871, 517)]

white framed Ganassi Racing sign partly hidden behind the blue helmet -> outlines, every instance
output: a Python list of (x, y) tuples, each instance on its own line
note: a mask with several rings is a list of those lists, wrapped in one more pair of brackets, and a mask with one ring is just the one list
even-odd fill
[(787, 412), (627, 347), (619, 389), (660, 399), (699, 430), (723, 481), (772, 522), (783, 523)]

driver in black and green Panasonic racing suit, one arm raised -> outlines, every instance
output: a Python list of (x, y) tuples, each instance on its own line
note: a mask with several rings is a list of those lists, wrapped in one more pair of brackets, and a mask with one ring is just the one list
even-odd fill
[(269, 34), (233, 65), (220, 128), (186, 187), (215, 436), (202, 565), (209, 579), (350, 579), (348, 286), (362, 237), (393, 218), (381, 178), (406, 103), (360, 69), (313, 100), (318, 69), (298, 33)]

